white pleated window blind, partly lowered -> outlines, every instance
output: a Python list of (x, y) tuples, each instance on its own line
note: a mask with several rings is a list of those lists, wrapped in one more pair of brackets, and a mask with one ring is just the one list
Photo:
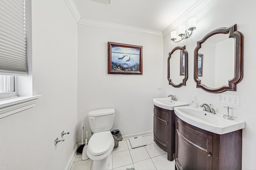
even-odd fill
[(0, 0), (0, 74), (28, 74), (24, 0)]

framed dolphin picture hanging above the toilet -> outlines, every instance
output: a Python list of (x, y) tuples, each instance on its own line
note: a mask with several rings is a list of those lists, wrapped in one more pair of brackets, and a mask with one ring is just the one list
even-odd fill
[(142, 74), (142, 46), (108, 42), (108, 74)]

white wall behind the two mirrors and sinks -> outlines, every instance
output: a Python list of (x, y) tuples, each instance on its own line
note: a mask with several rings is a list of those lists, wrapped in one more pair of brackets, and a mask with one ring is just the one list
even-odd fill
[[(238, 0), (212, 0), (207, 6), (204, 6), (199, 12), (196, 12), (191, 17), (197, 18), (197, 29), (192, 36), (180, 43), (170, 41), (170, 35), (164, 37), (164, 57), (163, 57), (163, 92), (178, 96), (179, 100), (190, 102), (192, 95), (197, 95), (199, 103), (212, 103), (213, 107), (220, 113), (226, 113), (223, 108), (225, 104), (217, 103), (217, 95), (204, 92), (196, 88), (196, 83), (193, 78), (193, 54), (196, 48), (196, 41), (201, 40), (208, 32), (218, 27), (229, 27), (237, 23), (238, 31), (244, 35), (244, 77), (237, 84), (236, 92), (224, 92), (224, 94), (234, 94), (240, 96), (240, 106), (231, 110), (231, 114), (246, 122), (246, 127), (243, 129), (242, 141), (242, 169), (255, 170), (256, 168), (256, 109), (255, 109), (255, 63), (256, 57), (254, 54), (255, 36), (252, 34), (256, 27), (255, 9), (251, 1), (240, 2)], [(187, 25), (186, 23), (184, 23)], [(177, 28), (178, 29), (178, 28)], [(188, 81), (186, 86), (174, 88), (168, 85), (167, 76), (167, 58), (168, 53), (176, 46), (186, 45), (188, 51)], [(227, 141), (228, 143), (228, 141)], [(235, 149), (235, 148), (234, 148)]]

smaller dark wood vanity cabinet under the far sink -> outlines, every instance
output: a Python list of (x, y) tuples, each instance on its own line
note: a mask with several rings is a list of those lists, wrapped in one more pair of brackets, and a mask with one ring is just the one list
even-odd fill
[(174, 160), (175, 113), (173, 110), (154, 106), (154, 141), (167, 152), (167, 159)]

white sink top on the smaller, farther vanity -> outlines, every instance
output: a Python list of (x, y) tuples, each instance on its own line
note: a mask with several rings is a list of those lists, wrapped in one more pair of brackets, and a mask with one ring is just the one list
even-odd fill
[(163, 109), (167, 109), (167, 110), (174, 110), (174, 107), (189, 105), (186, 102), (182, 102), (180, 100), (174, 101), (171, 98), (155, 98), (153, 99), (153, 103), (155, 106)]

